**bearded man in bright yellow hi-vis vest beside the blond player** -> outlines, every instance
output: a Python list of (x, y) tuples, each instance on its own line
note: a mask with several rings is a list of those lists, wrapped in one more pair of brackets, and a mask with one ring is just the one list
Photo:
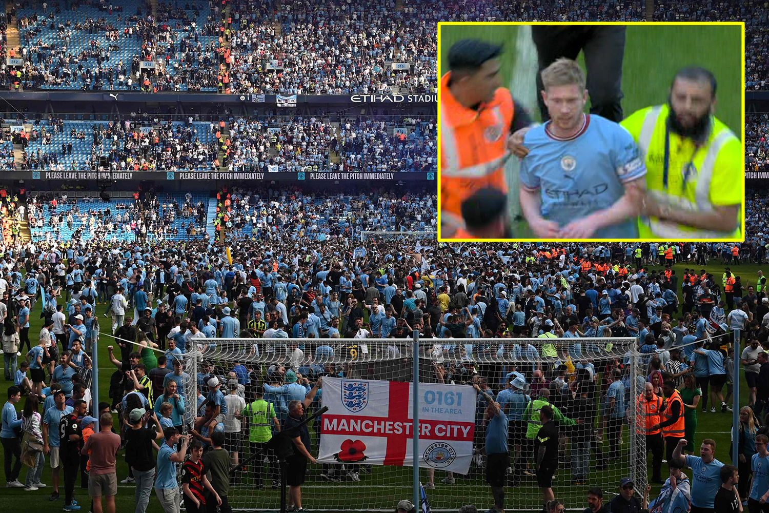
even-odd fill
[(621, 122), (647, 168), (640, 238), (741, 238), (742, 144), (714, 116), (715, 104), (711, 72), (684, 68), (667, 105), (643, 108)]

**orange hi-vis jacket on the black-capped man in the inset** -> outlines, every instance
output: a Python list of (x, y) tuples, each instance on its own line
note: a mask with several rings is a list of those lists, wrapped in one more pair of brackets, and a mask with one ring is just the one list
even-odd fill
[(462, 202), (480, 188), (508, 192), (504, 163), (515, 106), (510, 91), (498, 88), (491, 102), (474, 110), (457, 102), (441, 77), (441, 225), (464, 228)]

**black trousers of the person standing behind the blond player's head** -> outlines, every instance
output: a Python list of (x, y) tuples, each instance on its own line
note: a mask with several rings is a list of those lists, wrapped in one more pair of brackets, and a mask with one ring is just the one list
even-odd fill
[(624, 27), (560, 27), (540, 25), (531, 28), (537, 46), (539, 70), (537, 73), (537, 102), (542, 122), (550, 119), (542, 100), (541, 71), (561, 57), (577, 59), (584, 52), (588, 68), (587, 88), (590, 93), (591, 114), (613, 122), (622, 121), (622, 58), (624, 56)]

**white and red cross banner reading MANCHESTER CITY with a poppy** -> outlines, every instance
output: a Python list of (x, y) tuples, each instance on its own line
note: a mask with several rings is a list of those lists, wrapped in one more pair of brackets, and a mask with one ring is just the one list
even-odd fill
[[(419, 466), (467, 474), (475, 400), (465, 385), (419, 384)], [(414, 465), (414, 388), (398, 381), (323, 378), (318, 463)]]

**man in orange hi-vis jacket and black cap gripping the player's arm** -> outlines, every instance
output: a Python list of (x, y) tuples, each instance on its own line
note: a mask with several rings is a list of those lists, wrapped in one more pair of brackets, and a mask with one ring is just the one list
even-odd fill
[(500, 87), (501, 46), (464, 39), (448, 52), (441, 77), (441, 238), (464, 229), (461, 205), (482, 188), (505, 195), (508, 136), (531, 118)]

